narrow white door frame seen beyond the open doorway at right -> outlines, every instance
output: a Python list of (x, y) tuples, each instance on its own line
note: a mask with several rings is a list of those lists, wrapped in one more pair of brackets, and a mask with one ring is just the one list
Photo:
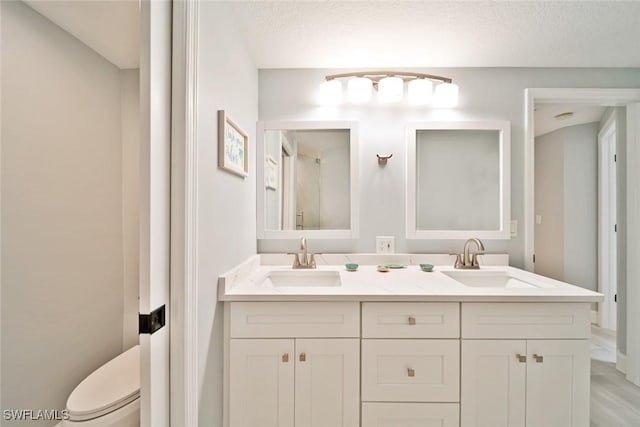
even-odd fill
[(617, 223), (617, 180), (615, 141), (617, 121), (612, 114), (598, 132), (598, 291), (605, 300), (598, 304), (598, 324), (606, 329), (616, 329), (615, 303), (611, 286), (617, 287), (617, 239), (614, 232)]

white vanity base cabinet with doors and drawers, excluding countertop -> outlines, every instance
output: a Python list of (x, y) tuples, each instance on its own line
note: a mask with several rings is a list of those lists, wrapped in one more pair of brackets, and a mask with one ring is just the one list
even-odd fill
[(228, 302), (226, 427), (587, 427), (589, 302)]

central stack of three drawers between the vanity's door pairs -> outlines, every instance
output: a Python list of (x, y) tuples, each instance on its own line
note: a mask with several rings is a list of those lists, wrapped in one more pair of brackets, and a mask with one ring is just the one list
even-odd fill
[(362, 304), (362, 427), (459, 425), (459, 307)]

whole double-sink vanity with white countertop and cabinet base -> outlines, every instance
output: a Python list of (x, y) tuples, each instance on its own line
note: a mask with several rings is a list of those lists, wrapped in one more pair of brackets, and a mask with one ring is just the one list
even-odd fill
[(601, 295), (489, 255), (430, 273), (424, 257), (380, 273), (375, 256), (303, 271), (258, 255), (222, 276), (225, 425), (588, 426)]

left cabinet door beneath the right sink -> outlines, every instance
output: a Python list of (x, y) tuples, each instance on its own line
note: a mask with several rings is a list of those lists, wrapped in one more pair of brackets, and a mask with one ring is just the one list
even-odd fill
[(524, 427), (526, 354), (524, 340), (462, 341), (462, 427)]

